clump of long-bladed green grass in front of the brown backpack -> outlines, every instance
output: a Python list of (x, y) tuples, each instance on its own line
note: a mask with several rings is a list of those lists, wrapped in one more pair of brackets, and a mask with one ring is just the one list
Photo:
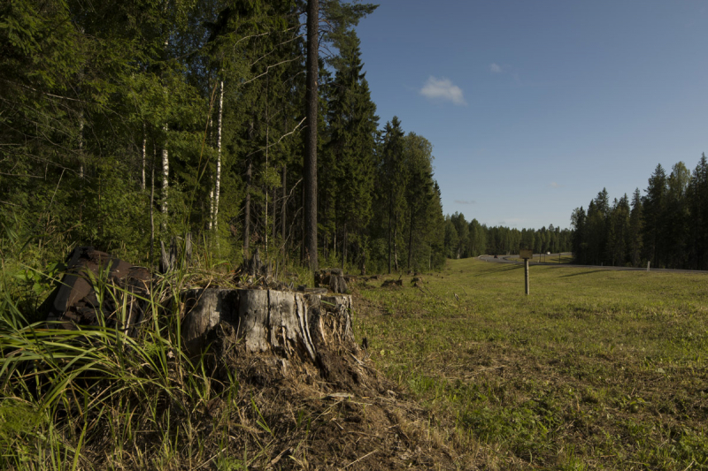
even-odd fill
[[(92, 282), (99, 300), (113, 297), (116, 314), (125, 320), (129, 293), (105, 276)], [(127, 336), (121, 323), (80, 330), (27, 323), (10, 293), (3, 292), (0, 467), (85, 468), (95, 460), (85, 456), (84, 448), (101, 442), (142, 448), (129, 453), (133, 466), (151, 467), (141, 462), (145, 456), (170, 458), (184, 425), (174, 419), (189, 417), (190, 409), (211, 399), (211, 382), (181, 353), (177, 316), (164, 308), (179, 285), (180, 280), (164, 277), (140, 299), (146, 312), (136, 337)], [(164, 436), (157, 454), (140, 444), (147, 423)], [(112, 445), (107, 450), (116, 454)], [(118, 452), (105, 458), (109, 467), (122, 467), (125, 456)]]

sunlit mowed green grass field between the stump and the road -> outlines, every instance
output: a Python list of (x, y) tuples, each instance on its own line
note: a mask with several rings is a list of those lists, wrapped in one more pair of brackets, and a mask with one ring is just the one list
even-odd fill
[[(358, 336), (460, 467), (708, 468), (708, 274), (450, 261), (358, 289)], [(375, 284), (375, 286), (373, 285)]]

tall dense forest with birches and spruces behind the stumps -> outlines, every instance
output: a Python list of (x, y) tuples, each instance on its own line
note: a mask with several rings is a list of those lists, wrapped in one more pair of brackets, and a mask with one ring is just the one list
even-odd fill
[[(0, 6), (0, 219), (57, 254), (422, 270), (446, 256), (432, 145), (380, 127), (339, 0)], [(304, 21), (306, 19), (306, 21)], [(324, 261), (318, 263), (318, 256)]]

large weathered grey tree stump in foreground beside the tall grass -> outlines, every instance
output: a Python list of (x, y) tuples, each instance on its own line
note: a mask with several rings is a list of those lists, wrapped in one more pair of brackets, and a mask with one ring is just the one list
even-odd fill
[(277, 290), (196, 289), (184, 293), (181, 336), (190, 355), (228, 323), (246, 353), (273, 353), (314, 362), (318, 346), (353, 342), (350, 296)]

